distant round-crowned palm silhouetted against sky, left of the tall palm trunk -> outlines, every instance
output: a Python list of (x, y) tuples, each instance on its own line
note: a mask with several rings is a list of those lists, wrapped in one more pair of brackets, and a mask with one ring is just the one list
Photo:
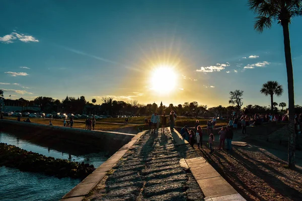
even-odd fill
[(264, 95), (271, 96), (271, 110), (274, 111), (273, 95), (274, 94), (276, 94), (277, 96), (282, 95), (283, 93), (282, 85), (280, 85), (277, 81), (268, 81), (262, 85), (260, 92), (263, 93)]

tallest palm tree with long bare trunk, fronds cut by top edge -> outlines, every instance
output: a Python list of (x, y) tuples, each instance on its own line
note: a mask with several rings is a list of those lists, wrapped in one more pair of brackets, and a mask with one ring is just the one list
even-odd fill
[(301, 0), (249, 0), (250, 10), (258, 16), (254, 29), (263, 32), (264, 28), (271, 28), (273, 20), (277, 21), (283, 29), (283, 43), (287, 71), (288, 88), (288, 167), (295, 166), (295, 133), (294, 133), (294, 92), (293, 72), (289, 40), (289, 24), (291, 19), (302, 15)]

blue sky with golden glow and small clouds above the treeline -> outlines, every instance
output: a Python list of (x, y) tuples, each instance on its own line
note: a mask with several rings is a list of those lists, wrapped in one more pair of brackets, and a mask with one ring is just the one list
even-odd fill
[[(5, 97), (111, 96), (139, 103), (268, 106), (262, 84), (276, 80), (287, 103), (282, 28), (259, 34), (243, 0), (2, 1), (0, 88)], [(290, 25), (295, 104), (302, 105), (302, 18)], [(167, 93), (151, 90), (159, 65), (177, 79)], [(24, 68), (26, 67), (26, 68)], [(159, 75), (159, 77), (161, 77)], [(169, 75), (159, 79), (169, 85)], [(168, 84), (164, 79), (169, 80)], [(14, 84), (15, 83), (15, 84)], [(168, 86), (167, 86), (168, 87)]]

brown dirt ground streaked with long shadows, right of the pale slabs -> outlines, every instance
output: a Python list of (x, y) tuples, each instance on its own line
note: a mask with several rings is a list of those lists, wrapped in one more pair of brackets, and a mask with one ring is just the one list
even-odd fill
[(247, 200), (302, 200), (302, 170), (286, 168), (285, 161), (264, 148), (249, 144), (233, 146), (231, 152), (216, 148), (213, 154), (206, 146), (195, 150)]

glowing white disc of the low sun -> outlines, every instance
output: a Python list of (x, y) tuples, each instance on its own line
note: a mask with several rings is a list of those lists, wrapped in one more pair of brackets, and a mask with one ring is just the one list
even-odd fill
[(175, 89), (176, 83), (177, 74), (173, 66), (159, 65), (152, 70), (150, 85), (155, 92), (168, 93)]

